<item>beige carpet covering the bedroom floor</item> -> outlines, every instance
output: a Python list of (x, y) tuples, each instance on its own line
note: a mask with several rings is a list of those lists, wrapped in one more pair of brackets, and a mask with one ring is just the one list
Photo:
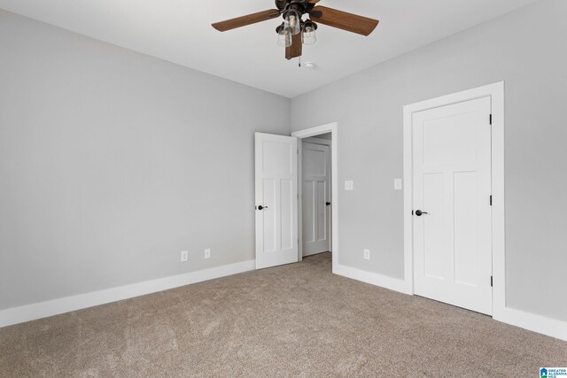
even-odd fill
[(0, 328), (2, 377), (537, 377), (567, 343), (330, 273), (330, 254)]

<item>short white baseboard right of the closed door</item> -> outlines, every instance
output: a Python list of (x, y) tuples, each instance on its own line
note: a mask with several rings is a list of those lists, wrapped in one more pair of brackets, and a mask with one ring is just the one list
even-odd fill
[(493, 315), (494, 320), (567, 341), (567, 321), (548, 318), (532, 312), (505, 307)]

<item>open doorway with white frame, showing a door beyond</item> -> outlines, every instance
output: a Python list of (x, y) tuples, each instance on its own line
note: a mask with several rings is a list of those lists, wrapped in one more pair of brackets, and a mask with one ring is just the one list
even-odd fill
[(299, 138), (299, 256), (332, 252), (338, 264), (337, 124), (292, 133)]

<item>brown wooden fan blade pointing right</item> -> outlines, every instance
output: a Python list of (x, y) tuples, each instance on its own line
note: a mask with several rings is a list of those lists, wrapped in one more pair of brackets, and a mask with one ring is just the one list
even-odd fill
[(379, 22), (377, 19), (369, 19), (368, 17), (337, 11), (321, 5), (315, 6), (313, 11), (310, 12), (310, 16), (317, 23), (338, 27), (359, 35), (369, 35), (374, 31)]

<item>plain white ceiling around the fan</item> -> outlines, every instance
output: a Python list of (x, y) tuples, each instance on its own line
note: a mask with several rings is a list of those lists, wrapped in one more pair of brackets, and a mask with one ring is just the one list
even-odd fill
[(211, 23), (275, 8), (273, 0), (0, 0), (0, 8), (198, 71), (293, 97), (536, 0), (322, 0), (379, 19), (364, 37), (320, 25), (297, 59), (276, 45), (280, 19), (218, 32)]

